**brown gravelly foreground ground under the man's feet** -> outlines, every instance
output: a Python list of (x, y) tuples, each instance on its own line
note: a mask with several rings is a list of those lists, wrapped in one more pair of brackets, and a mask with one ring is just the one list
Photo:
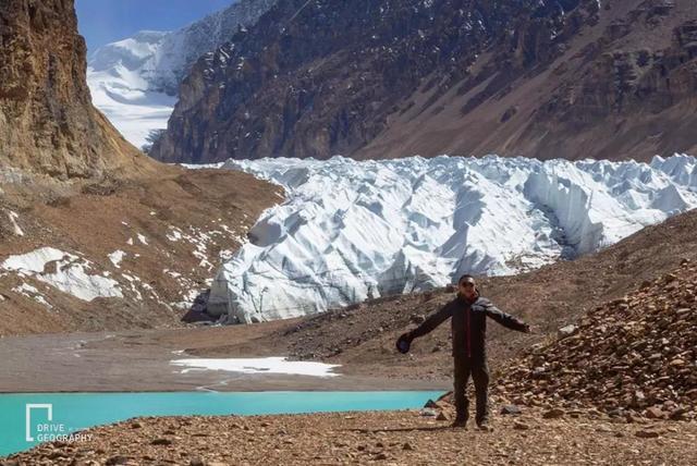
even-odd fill
[(452, 429), (414, 410), (142, 418), (0, 464), (694, 465), (697, 457), (694, 422), (626, 424), (585, 412), (545, 419), (541, 410), (525, 410), (497, 416), (492, 426), (492, 432)]

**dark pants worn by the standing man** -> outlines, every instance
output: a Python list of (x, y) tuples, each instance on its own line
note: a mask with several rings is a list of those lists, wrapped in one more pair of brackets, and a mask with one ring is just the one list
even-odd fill
[(467, 398), (467, 381), (472, 376), (475, 382), (475, 393), (477, 395), (477, 422), (489, 418), (489, 367), (486, 359), (482, 361), (470, 361), (467, 358), (455, 357), (455, 410), (457, 419), (469, 417), (469, 400)]

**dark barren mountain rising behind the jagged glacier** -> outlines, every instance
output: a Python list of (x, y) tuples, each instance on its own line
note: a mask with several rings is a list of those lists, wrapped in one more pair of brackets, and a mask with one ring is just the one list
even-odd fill
[(692, 0), (281, 0), (193, 68), (152, 155), (690, 151), (696, 20)]

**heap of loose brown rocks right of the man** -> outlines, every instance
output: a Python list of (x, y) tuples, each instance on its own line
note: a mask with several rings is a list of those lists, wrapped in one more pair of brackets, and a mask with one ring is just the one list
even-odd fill
[(557, 341), (512, 364), (501, 390), (524, 403), (649, 417), (697, 416), (697, 266), (647, 280), (565, 327)]

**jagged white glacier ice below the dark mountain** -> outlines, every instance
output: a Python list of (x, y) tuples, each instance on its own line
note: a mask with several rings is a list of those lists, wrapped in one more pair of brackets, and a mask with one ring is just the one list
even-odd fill
[[(209, 165), (210, 167), (210, 165)], [(572, 259), (697, 206), (697, 160), (267, 158), (212, 165), (281, 185), (218, 270), (208, 312), (249, 323)]]

